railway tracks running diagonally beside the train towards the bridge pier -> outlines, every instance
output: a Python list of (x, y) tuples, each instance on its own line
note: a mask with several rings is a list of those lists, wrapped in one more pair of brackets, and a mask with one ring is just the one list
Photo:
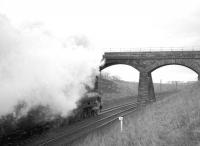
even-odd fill
[(119, 116), (124, 116), (136, 110), (137, 103), (126, 103), (119, 106), (114, 106), (102, 110), (102, 112), (94, 117), (86, 119), (82, 122), (75, 123), (70, 127), (66, 127), (61, 130), (58, 134), (54, 134), (51, 137), (41, 137), (39, 141), (36, 142), (26, 142), (25, 145), (29, 146), (58, 146), (58, 145), (67, 145), (73, 140), (80, 138), (81, 136), (97, 129), (103, 127), (115, 120)]

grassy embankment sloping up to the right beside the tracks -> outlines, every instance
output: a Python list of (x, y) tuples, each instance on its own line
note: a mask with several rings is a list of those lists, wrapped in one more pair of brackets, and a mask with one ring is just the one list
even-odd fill
[(76, 146), (199, 146), (200, 83), (77, 140)]

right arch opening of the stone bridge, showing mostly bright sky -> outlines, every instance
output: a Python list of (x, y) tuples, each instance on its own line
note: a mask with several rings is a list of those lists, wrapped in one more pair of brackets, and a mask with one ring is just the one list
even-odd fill
[(164, 65), (152, 72), (155, 93), (174, 91), (198, 80), (195, 70), (184, 65)]

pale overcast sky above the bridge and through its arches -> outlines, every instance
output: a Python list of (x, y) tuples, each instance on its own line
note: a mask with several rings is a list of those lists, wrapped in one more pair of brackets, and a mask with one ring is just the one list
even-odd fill
[[(199, 0), (0, 0), (0, 13), (16, 27), (38, 25), (57, 38), (86, 36), (99, 49), (200, 46)], [(125, 80), (137, 80), (126, 70)], [(197, 77), (183, 67), (160, 70), (154, 80)]]

